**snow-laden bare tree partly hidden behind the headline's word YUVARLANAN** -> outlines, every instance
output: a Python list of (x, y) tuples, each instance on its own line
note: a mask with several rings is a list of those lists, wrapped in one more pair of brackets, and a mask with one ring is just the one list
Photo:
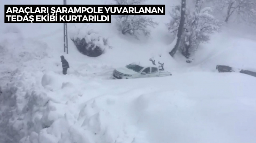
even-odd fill
[[(146, 0), (114, 0), (115, 5), (140, 5)], [(141, 33), (150, 35), (149, 27), (158, 25), (152, 18), (144, 15), (115, 15), (116, 25), (123, 35), (126, 33), (137, 37)]]

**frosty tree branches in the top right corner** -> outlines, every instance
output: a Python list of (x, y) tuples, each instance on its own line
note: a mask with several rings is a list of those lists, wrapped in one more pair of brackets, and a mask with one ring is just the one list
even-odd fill
[(214, 2), (217, 12), (225, 12), (225, 22), (228, 22), (231, 16), (241, 18), (246, 22), (256, 22), (256, 0), (215, 0), (210, 2)]

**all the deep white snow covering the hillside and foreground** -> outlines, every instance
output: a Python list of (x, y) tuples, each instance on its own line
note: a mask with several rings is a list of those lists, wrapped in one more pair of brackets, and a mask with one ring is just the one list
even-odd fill
[[(148, 4), (165, 4), (168, 13), (175, 2)], [(256, 78), (215, 70), (217, 64), (256, 69), (253, 30), (224, 26), (189, 64), (168, 54), (168, 15), (154, 17), (159, 26), (140, 41), (120, 35), (114, 23), (86, 25), (112, 46), (97, 58), (80, 54), (71, 40), (63, 53), (61, 23), (4, 24), (1, 17), (0, 143), (255, 143)], [(70, 64), (66, 76), (60, 55)], [(173, 76), (110, 80), (114, 68), (151, 57)]]

